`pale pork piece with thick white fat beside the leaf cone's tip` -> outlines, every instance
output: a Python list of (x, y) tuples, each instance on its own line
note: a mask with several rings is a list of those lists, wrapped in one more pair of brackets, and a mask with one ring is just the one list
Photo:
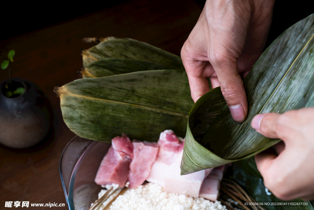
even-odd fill
[(159, 153), (146, 180), (160, 184), (167, 192), (198, 197), (205, 178), (205, 170), (180, 175), (184, 141), (179, 138), (172, 130), (160, 133)]

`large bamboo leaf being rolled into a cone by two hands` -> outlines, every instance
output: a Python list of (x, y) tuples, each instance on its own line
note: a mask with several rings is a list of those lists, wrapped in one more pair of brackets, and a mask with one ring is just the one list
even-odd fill
[[(197, 140), (189, 131), (196, 125), (189, 124), (185, 144), (194, 146), (189, 150), (185, 147), (182, 174), (248, 158), (279, 142), (250, 127), (256, 114), (283, 113), (314, 106), (313, 33), (314, 14), (287, 29), (257, 60), (243, 81), (248, 99), (248, 115), (244, 122), (234, 122), (226, 107), (204, 137)], [(203, 97), (210, 97), (210, 94)], [(204, 155), (208, 153), (214, 159), (206, 162)], [(184, 167), (185, 162), (188, 167)]]

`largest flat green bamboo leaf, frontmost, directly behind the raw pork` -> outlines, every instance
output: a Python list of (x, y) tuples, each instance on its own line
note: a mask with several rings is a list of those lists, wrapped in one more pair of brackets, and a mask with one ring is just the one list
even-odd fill
[(78, 79), (55, 89), (64, 122), (87, 139), (106, 141), (122, 132), (157, 141), (160, 131), (184, 136), (191, 99), (181, 70), (151, 70)]

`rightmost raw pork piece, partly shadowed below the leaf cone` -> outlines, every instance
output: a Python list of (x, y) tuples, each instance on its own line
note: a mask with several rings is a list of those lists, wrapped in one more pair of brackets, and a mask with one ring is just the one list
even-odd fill
[(219, 196), (220, 181), (223, 177), (225, 165), (215, 167), (204, 179), (199, 196), (211, 201), (216, 201)]

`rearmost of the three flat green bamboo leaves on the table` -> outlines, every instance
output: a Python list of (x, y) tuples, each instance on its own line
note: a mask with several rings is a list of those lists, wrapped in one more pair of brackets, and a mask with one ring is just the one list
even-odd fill
[(104, 58), (124, 58), (165, 65), (184, 70), (179, 56), (150, 44), (129, 38), (107, 37), (105, 41), (82, 51), (83, 66)]

